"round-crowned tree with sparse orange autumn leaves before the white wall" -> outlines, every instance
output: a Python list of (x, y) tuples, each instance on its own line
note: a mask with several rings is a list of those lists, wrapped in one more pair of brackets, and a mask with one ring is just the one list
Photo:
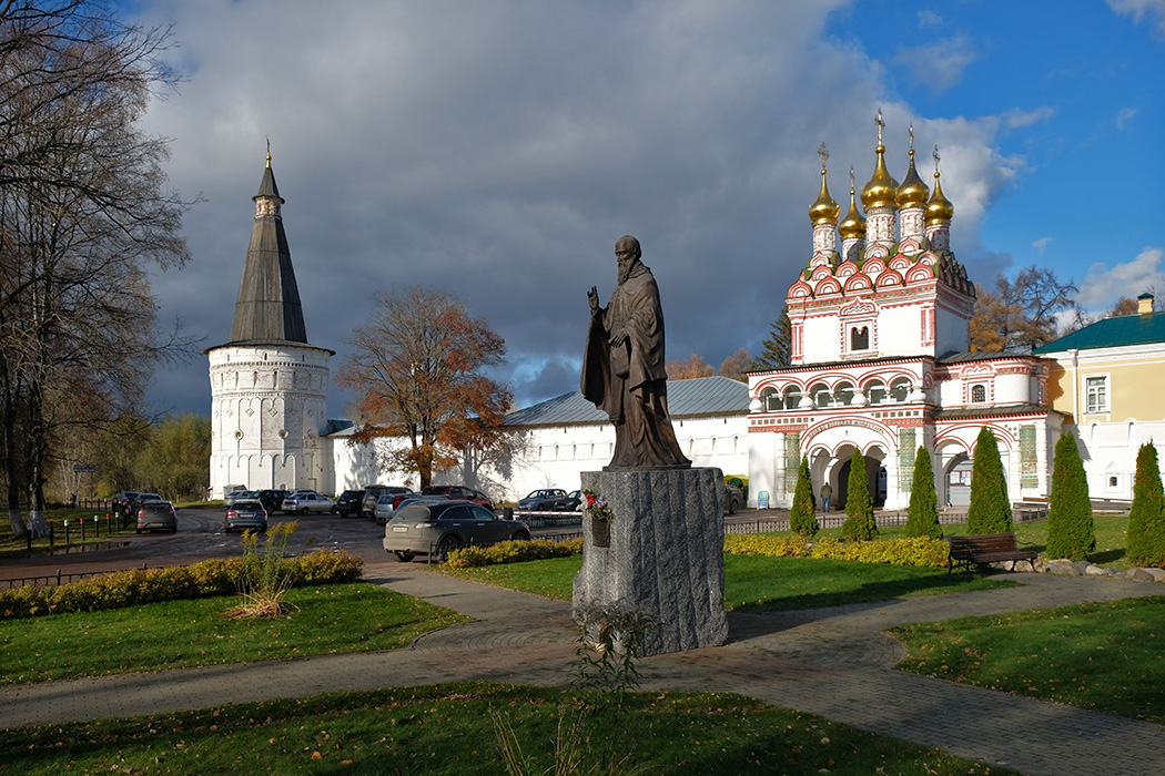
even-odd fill
[(421, 487), (467, 448), (501, 446), (513, 394), (482, 373), (506, 355), (486, 319), (469, 318), (446, 291), (419, 286), (376, 294), (375, 309), (353, 332), (352, 354), (336, 377), (358, 397), (360, 422), (350, 443), (405, 440), (383, 451), (381, 468), (416, 472)]

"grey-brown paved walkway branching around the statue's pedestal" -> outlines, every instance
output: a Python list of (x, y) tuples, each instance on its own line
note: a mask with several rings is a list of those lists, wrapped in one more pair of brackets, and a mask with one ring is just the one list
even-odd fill
[[(400, 563), (368, 565), (365, 576), (475, 619), (394, 652), (3, 686), (0, 729), (463, 679), (570, 683), (577, 633), (570, 604)], [(904, 650), (881, 631), (894, 625), (1160, 591), (1114, 579), (1014, 578), (1024, 584), (876, 605), (733, 613), (728, 645), (645, 658), (641, 684), (737, 692), (1032, 776), (1165, 773), (1165, 728), (1158, 725), (891, 670)]]

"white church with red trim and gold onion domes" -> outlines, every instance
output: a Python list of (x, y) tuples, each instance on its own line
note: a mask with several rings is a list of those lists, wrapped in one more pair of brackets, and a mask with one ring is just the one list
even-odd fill
[(822, 149), (821, 191), (809, 212), (813, 252), (785, 297), (790, 366), (749, 376), (749, 500), (789, 506), (807, 458), (814, 493), (829, 483), (840, 508), (856, 449), (876, 505), (904, 508), (925, 447), (940, 503), (966, 504), (983, 426), (998, 440), (1011, 500), (1044, 498), (1064, 422), (1048, 401), (1051, 362), (969, 351), (975, 287), (951, 251), (954, 207), (938, 157), (931, 191), (915, 169), (912, 133), (901, 184), (884, 154), (880, 115), (864, 216), (850, 183), (839, 222)]

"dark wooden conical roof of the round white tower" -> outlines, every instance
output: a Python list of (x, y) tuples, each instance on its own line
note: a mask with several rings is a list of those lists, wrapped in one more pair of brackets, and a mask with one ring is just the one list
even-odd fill
[(255, 201), (255, 226), (247, 248), (247, 264), (234, 305), (231, 342), (308, 342), (303, 323), (299, 289), (291, 269), (291, 251), (283, 232), (280, 207), (283, 198), (275, 185), (271, 156), (259, 185)]

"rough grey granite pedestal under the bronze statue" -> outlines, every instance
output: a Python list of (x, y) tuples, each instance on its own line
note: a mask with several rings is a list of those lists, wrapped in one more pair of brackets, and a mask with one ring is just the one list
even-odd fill
[[(722, 645), (728, 622), (720, 470), (584, 471), (582, 489), (606, 500), (614, 518), (608, 526), (582, 519), (576, 620), (612, 608), (644, 615), (651, 626), (640, 655)], [(600, 547), (605, 527), (609, 542)]]

